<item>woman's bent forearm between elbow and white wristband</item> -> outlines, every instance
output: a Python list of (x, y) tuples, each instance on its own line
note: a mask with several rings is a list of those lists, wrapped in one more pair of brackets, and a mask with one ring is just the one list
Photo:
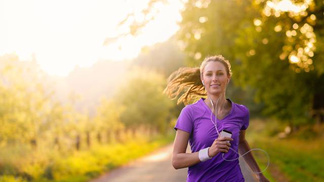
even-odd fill
[(198, 153), (199, 152), (174, 154), (172, 156), (173, 167), (175, 169), (181, 169), (197, 164), (200, 162)]

